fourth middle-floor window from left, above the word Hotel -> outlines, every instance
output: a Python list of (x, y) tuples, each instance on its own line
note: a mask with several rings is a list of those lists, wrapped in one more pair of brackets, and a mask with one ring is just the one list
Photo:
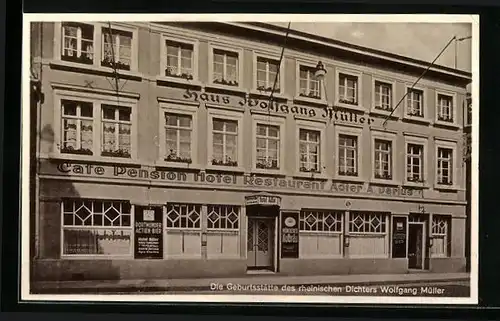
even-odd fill
[(212, 165), (238, 166), (238, 121), (213, 118)]

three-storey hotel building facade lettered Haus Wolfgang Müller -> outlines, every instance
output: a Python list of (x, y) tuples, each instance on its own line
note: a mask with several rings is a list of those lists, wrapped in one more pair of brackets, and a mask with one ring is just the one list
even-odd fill
[(465, 271), (471, 75), (285, 34), (33, 24), (32, 278)]

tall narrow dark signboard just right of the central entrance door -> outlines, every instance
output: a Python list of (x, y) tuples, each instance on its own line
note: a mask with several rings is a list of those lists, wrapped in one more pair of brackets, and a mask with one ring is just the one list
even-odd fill
[(281, 214), (281, 258), (299, 258), (299, 213)]

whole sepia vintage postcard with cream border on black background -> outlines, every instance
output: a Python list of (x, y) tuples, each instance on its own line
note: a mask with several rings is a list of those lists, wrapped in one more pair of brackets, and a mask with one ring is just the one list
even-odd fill
[(478, 16), (24, 18), (23, 300), (477, 304)]

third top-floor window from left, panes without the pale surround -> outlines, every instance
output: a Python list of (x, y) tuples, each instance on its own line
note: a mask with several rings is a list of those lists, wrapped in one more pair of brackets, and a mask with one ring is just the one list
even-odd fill
[(194, 46), (176, 41), (165, 41), (167, 63), (165, 76), (192, 80), (194, 77)]

